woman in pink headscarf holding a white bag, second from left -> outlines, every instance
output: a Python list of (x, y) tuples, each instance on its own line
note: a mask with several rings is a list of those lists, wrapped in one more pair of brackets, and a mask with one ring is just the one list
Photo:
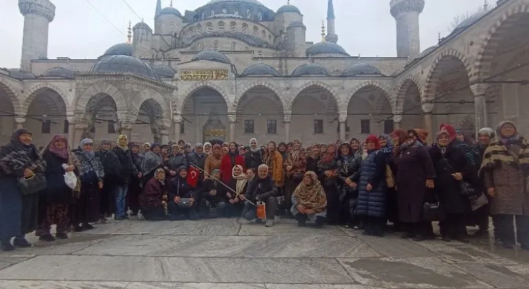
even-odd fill
[[(79, 160), (70, 152), (68, 139), (58, 134), (43, 150), (42, 158), (46, 162), (46, 184), (48, 188), (40, 195), (39, 200), (39, 239), (45, 242), (52, 242), (55, 237), (68, 239), (70, 220), (68, 217), (68, 204), (72, 199), (74, 190), (66, 185), (64, 180), (65, 172), (73, 171), (79, 175)], [(66, 168), (63, 168), (66, 164)], [(79, 195), (80, 187), (77, 188), (76, 195)], [(57, 225), (55, 237), (50, 233), (53, 224)]]

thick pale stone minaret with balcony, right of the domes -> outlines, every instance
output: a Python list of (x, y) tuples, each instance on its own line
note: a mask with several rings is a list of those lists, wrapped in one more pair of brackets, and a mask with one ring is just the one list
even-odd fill
[(397, 24), (397, 56), (413, 59), (421, 53), (419, 14), (424, 0), (391, 0), (389, 6)]

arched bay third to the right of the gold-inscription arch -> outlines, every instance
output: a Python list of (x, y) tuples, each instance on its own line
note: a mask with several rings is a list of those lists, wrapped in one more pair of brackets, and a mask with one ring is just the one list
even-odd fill
[(380, 133), (391, 133), (392, 114), (391, 103), (384, 89), (375, 85), (361, 87), (347, 106), (347, 139), (365, 140), (371, 134), (378, 136)]

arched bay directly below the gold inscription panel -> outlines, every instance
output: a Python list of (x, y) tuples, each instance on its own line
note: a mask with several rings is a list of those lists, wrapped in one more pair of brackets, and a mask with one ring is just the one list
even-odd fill
[(228, 105), (222, 94), (211, 87), (198, 87), (183, 103), (180, 138), (186, 142), (226, 141)]

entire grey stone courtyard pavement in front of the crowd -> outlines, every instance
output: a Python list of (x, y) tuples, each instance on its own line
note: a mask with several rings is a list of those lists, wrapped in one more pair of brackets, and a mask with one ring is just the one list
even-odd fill
[(529, 288), (529, 253), (337, 226), (125, 220), (0, 255), (0, 289)]

